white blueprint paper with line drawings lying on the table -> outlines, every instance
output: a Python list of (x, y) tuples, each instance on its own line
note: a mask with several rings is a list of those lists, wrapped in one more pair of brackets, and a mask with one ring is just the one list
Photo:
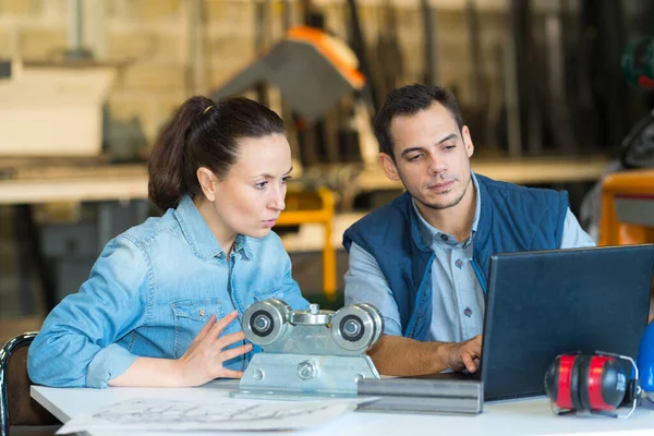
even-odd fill
[(78, 415), (57, 434), (78, 432), (264, 431), (316, 427), (354, 410), (355, 400), (254, 401), (132, 398)]

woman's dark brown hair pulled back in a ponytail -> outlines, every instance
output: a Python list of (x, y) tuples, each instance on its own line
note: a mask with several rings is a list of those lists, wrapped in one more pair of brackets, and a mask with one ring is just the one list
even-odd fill
[(283, 121), (267, 107), (244, 97), (218, 102), (187, 99), (159, 133), (149, 155), (149, 199), (162, 211), (185, 194), (202, 193), (197, 169), (223, 180), (239, 156), (238, 140), (283, 133)]

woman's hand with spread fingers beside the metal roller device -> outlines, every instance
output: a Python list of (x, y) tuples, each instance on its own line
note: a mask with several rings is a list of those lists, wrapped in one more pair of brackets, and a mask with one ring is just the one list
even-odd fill
[(216, 316), (211, 315), (184, 355), (177, 361), (182, 386), (199, 386), (219, 377), (241, 378), (243, 372), (227, 370), (222, 363), (249, 352), (252, 350), (252, 346), (247, 343), (223, 350), (232, 343), (244, 340), (243, 331), (218, 338), (237, 316), (237, 311), (220, 320), (216, 320)]

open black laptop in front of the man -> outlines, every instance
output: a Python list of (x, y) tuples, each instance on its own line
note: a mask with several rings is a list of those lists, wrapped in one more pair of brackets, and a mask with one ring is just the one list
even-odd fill
[(493, 401), (545, 395), (545, 372), (559, 354), (635, 360), (653, 272), (654, 244), (495, 254), (480, 371), (411, 378), (481, 380)]

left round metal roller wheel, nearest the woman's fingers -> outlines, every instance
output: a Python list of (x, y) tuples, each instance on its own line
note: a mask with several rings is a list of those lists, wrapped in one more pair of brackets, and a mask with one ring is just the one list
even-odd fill
[(283, 336), (291, 306), (278, 299), (259, 301), (243, 313), (245, 338), (257, 346), (268, 346)]

